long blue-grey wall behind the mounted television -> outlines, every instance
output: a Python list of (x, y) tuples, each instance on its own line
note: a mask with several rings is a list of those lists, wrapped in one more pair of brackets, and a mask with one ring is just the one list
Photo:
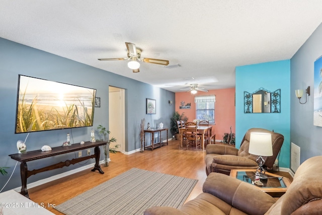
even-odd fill
[[(129, 73), (132, 73), (130, 69)], [(0, 38), (0, 167), (10, 167), (7, 169), (8, 175), (0, 175), (0, 189), (5, 185), (16, 165), (16, 161), (8, 155), (18, 153), (17, 141), (25, 140), (27, 136), (27, 133), (15, 134), (19, 74), (97, 89), (96, 96), (101, 98), (101, 107), (95, 108), (93, 127), (31, 132), (26, 141), (27, 151), (40, 150), (44, 145), (61, 146), (66, 141), (67, 133), (71, 134), (72, 143), (89, 141), (92, 128), (96, 130), (96, 135), (98, 135), (97, 126), (99, 124), (108, 128), (109, 85), (125, 89), (126, 152), (140, 149), (141, 119), (145, 118), (146, 122), (150, 122), (151, 127), (156, 127), (160, 122), (164, 123), (164, 127), (170, 127), (170, 118), (175, 111), (175, 106), (170, 106), (168, 103), (169, 100), (175, 101), (175, 93), (173, 92)], [(146, 114), (146, 98), (156, 100), (156, 114)], [(171, 132), (169, 132), (168, 138), (171, 137)], [(86, 155), (86, 152), (83, 152), (83, 155)], [(75, 157), (77, 157), (75, 153), (68, 153), (31, 161), (27, 164), (28, 169), (33, 170)], [(101, 160), (103, 160), (103, 150), (101, 150)], [(28, 183), (91, 163), (95, 163), (95, 160), (90, 159), (88, 162), (39, 173), (28, 178)], [(4, 191), (21, 186), (19, 165), (20, 163)]]

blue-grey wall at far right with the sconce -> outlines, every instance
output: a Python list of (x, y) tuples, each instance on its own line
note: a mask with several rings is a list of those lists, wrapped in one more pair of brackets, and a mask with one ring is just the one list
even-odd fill
[[(313, 125), (314, 61), (322, 55), (322, 24), (291, 58), (291, 142), (300, 147), (300, 163), (322, 155), (322, 127)], [(307, 103), (300, 104), (295, 90), (310, 86)], [(305, 91), (304, 91), (305, 92)], [(304, 102), (305, 98), (301, 98)]]

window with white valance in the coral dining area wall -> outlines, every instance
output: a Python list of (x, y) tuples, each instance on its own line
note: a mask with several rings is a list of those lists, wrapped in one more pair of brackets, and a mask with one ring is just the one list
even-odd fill
[(196, 119), (206, 119), (209, 123), (215, 123), (215, 95), (196, 96)]

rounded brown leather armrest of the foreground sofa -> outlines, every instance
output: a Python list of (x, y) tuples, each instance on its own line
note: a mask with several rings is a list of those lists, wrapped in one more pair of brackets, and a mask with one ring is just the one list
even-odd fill
[(256, 185), (221, 173), (208, 175), (203, 184), (203, 192), (210, 193), (247, 214), (264, 214), (275, 203), (272, 196)]

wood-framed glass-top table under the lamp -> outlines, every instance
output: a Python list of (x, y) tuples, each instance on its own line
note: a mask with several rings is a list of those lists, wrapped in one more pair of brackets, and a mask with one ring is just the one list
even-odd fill
[(261, 180), (264, 186), (260, 187), (254, 184), (255, 173), (255, 169), (234, 169), (230, 171), (230, 176), (245, 181), (246, 183), (253, 184), (273, 197), (281, 197), (291, 184), (288, 178), (266, 172), (265, 175), (268, 179)]

